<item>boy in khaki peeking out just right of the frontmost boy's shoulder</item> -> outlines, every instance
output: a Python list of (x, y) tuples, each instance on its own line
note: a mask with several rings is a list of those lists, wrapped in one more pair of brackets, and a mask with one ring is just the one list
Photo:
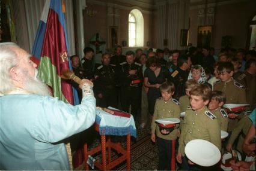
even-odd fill
[(228, 129), (228, 114), (221, 107), (226, 102), (226, 96), (222, 91), (213, 91), (212, 100), (210, 101), (208, 108), (217, 117), (219, 123), (221, 124), (221, 130), (227, 132)]

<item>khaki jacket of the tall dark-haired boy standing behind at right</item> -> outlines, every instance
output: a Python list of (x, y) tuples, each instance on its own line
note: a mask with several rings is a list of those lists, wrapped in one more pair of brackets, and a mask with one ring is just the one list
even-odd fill
[[(233, 104), (246, 104), (246, 96), (245, 96), (245, 86), (235, 81), (233, 78), (229, 82), (217, 81), (213, 90), (219, 90), (226, 94), (226, 103)], [(235, 119), (230, 119), (228, 124), (228, 132), (232, 131), (238, 121), (243, 117), (243, 115), (239, 115), (239, 117)]]

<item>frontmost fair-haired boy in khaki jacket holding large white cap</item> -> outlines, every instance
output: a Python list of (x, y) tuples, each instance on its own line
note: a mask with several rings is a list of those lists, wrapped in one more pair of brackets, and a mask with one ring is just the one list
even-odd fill
[(221, 150), (221, 128), (219, 121), (207, 108), (212, 96), (212, 90), (207, 85), (197, 85), (190, 91), (190, 105), (184, 116), (181, 135), (178, 141), (177, 161), (181, 170), (194, 170), (201, 167), (197, 164), (189, 165), (185, 156), (186, 143), (194, 139), (204, 139), (216, 145)]

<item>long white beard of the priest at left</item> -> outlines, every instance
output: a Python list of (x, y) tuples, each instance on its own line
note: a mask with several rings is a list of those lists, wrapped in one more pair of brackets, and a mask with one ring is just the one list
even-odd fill
[(29, 94), (38, 94), (41, 96), (50, 96), (49, 88), (41, 80), (38, 79), (38, 71), (35, 69), (34, 77), (31, 77), (28, 72), (22, 71), (25, 77), (25, 85), (23, 90), (27, 91)]

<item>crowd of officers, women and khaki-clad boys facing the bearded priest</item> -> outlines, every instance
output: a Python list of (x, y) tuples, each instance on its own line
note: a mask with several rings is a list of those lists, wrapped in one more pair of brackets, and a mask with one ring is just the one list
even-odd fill
[[(170, 168), (176, 139), (182, 170), (198, 169), (184, 154), (184, 146), (192, 139), (210, 141), (222, 152), (236, 148), (245, 159), (242, 145), (252, 121), (242, 112), (228, 113), (223, 105), (249, 103), (246, 110), (255, 109), (255, 51), (226, 47), (216, 54), (210, 47), (138, 48), (123, 55), (117, 46), (114, 54), (102, 54), (102, 65), (97, 67), (92, 53), (92, 48), (85, 48), (82, 65), (73, 65), (73, 70), (94, 82), (97, 105), (130, 112), (141, 128), (150, 124), (151, 140), (159, 145), (159, 170)], [(180, 118), (184, 111), (185, 117)], [(159, 131), (155, 120), (166, 117), (179, 118), (180, 127), (171, 133)], [(225, 142), (221, 142), (221, 130), (229, 133)]]

